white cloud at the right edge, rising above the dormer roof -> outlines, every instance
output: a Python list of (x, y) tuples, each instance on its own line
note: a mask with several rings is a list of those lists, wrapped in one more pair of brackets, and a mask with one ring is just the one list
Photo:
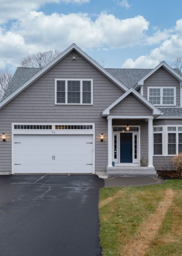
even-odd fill
[(173, 61), (178, 56), (182, 56), (182, 19), (177, 20), (174, 33), (169, 39), (145, 56), (140, 56), (136, 60), (127, 59), (122, 68), (154, 68), (160, 61)]

